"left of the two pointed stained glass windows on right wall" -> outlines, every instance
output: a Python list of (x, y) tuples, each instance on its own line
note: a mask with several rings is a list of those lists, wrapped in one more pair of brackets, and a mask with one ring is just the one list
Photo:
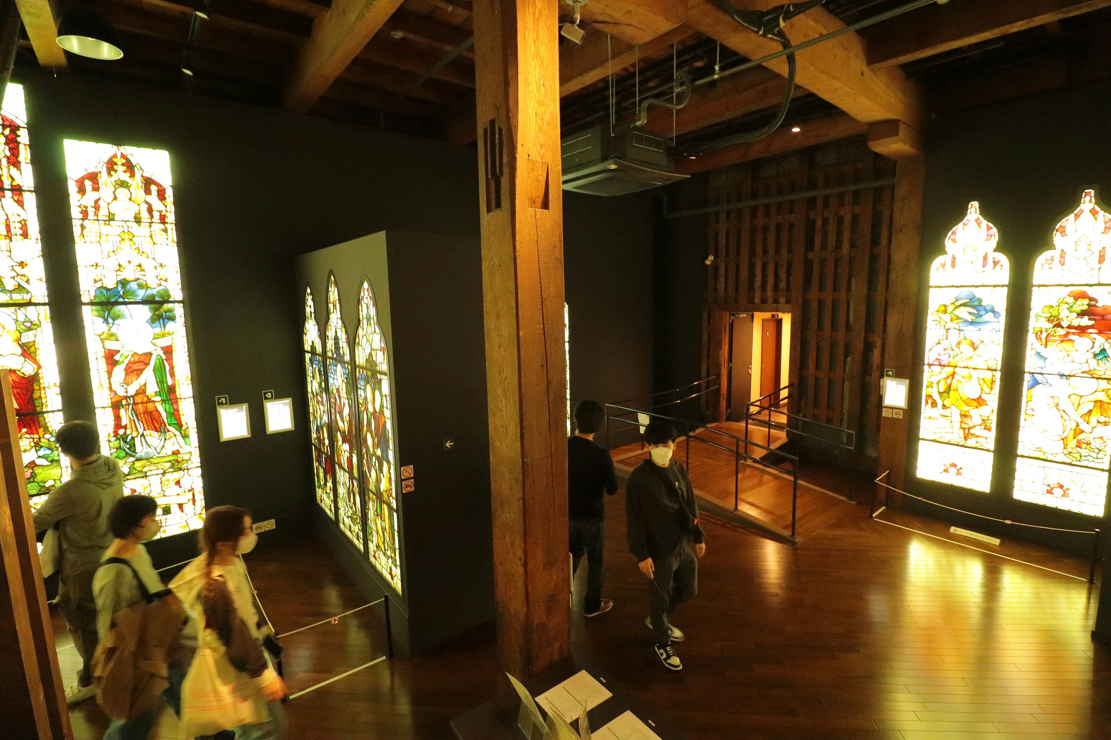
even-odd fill
[(999, 233), (969, 203), (930, 267), (918, 477), (987, 493), (1010, 270)]

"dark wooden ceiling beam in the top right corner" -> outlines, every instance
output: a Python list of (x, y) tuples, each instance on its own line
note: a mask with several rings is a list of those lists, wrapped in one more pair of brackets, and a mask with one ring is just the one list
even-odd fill
[(1009, 33), (1111, 7), (1111, 0), (977, 0), (927, 6), (865, 29), (868, 64), (905, 64)]

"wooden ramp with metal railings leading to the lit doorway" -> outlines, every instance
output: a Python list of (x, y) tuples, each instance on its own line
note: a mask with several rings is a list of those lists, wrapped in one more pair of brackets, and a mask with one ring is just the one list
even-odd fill
[[(734, 434), (740, 427), (742, 436), (743, 424), (727, 423), (715, 425), (723, 432)], [(754, 432), (754, 434), (753, 434)], [(767, 430), (755, 432), (750, 426), (750, 439), (764, 444)], [(777, 433), (772, 432), (775, 442)], [(694, 435), (717, 443), (724, 437), (712, 432), (702, 430)], [(772, 446), (775, 446), (774, 444)], [(612, 450), (618, 474), (628, 476), (634, 467), (648, 459), (648, 450), (641, 449), (640, 443), (625, 445)], [(687, 442), (680, 438), (675, 443), (675, 457), (687, 459)], [(791, 481), (787, 473), (777, 473), (767, 466), (741, 463), (737, 475), (737, 500), (734, 508), (733, 480), (735, 456), (699, 442), (690, 443), (690, 465), (688, 466), (691, 485), (699, 497), (699, 505), (707, 511), (733, 519), (742, 525), (752, 526), (777, 538), (789, 539), (791, 535)], [(798, 518), (795, 521), (795, 539), (801, 541), (840, 518), (853, 508), (849, 501), (837, 494), (827, 491), (812, 484), (799, 480)]]

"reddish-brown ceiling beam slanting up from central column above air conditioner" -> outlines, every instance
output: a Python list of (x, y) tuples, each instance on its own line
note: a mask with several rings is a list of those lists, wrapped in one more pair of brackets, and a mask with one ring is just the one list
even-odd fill
[(670, 31), (640, 44), (629, 43), (619, 38), (607, 38), (604, 31), (594, 31), (581, 45), (569, 44), (559, 55), (559, 94), (569, 95), (577, 90), (605, 79), (614, 72), (630, 67), (640, 59), (641, 63), (671, 52), (671, 44), (684, 45), (701, 33), (687, 27), (677, 26)]

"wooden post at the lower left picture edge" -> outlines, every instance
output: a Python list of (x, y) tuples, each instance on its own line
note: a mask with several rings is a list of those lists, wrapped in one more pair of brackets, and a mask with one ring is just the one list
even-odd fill
[(66, 691), (34, 545), (31, 506), (19, 449), (16, 403), (0, 371), (0, 707), (3, 737), (72, 738)]

